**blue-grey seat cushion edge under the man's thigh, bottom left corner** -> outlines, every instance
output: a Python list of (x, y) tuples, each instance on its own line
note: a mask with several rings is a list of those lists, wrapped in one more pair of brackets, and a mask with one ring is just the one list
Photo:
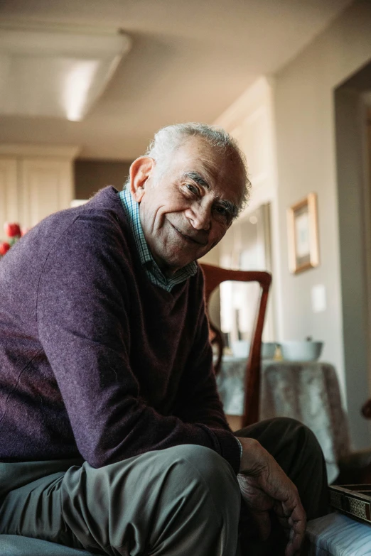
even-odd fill
[[(1, 556), (93, 556), (86, 550), (77, 550), (47, 540), (19, 535), (0, 535)], [(97, 555), (95, 555), (97, 556)]]

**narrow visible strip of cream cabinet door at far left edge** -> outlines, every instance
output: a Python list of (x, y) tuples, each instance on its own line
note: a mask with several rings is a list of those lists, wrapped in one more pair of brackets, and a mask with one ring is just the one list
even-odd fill
[(19, 222), (17, 161), (0, 157), (0, 238), (5, 239), (4, 222)]

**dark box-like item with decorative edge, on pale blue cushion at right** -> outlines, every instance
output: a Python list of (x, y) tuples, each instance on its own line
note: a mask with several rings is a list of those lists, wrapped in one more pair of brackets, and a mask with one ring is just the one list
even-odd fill
[(330, 504), (351, 518), (371, 523), (371, 484), (345, 484), (329, 487)]

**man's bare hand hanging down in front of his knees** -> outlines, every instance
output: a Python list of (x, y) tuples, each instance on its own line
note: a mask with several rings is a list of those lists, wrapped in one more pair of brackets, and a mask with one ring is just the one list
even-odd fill
[(273, 509), (289, 533), (285, 555), (293, 556), (299, 552), (306, 530), (306, 513), (296, 486), (257, 440), (238, 440), (243, 452), (237, 479), (259, 534), (263, 539), (269, 537), (271, 525), (268, 511)]

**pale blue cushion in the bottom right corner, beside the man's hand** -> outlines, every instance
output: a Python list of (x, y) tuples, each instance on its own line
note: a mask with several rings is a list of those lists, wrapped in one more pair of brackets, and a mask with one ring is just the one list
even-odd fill
[(308, 556), (370, 556), (371, 525), (342, 513), (329, 513), (308, 522)]

